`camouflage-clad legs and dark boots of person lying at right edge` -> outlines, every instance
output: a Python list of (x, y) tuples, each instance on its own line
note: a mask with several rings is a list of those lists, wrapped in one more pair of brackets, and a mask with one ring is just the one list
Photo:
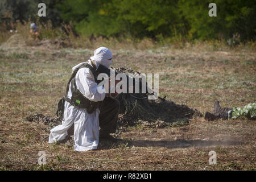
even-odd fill
[(213, 121), (215, 119), (237, 119), (242, 117), (243, 115), (249, 119), (253, 119), (256, 117), (256, 102), (247, 104), (243, 107), (234, 107), (226, 108), (221, 107), (219, 101), (214, 102), (214, 110), (213, 114), (209, 112), (205, 112), (205, 119), (208, 121)]

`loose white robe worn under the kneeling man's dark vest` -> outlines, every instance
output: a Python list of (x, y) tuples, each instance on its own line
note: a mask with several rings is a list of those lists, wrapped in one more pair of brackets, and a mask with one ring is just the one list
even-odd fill
[[(92, 65), (90, 60), (88, 60), (88, 63)], [(76, 67), (73, 67), (73, 70)], [(105, 92), (98, 92), (98, 85), (94, 81), (93, 73), (89, 68), (79, 69), (76, 73), (76, 85), (77, 89), (90, 101), (103, 101), (105, 98)], [(104, 90), (103, 86), (101, 90)], [(71, 85), (69, 85), (68, 98), (71, 98), (71, 95)], [(48, 142), (53, 143), (64, 139), (68, 135), (69, 127), (74, 123), (74, 150), (87, 151), (96, 149), (99, 138), (99, 114), (99, 109), (92, 114), (88, 114), (85, 109), (79, 109), (65, 101), (62, 125), (56, 126), (51, 130)]]

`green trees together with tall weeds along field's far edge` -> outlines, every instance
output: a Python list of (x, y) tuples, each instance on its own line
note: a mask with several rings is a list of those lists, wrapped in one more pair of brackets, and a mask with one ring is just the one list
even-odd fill
[(15, 30), (27, 37), (30, 23), (36, 22), (41, 39), (65, 38), (73, 47), (89, 48), (98, 42), (180, 48), (199, 40), (216, 47), (255, 46), (253, 1), (215, 1), (217, 17), (209, 17), (210, 2), (203, 0), (47, 0), (47, 16), (42, 18), (36, 15), (39, 2), (1, 1), (0, 43)]

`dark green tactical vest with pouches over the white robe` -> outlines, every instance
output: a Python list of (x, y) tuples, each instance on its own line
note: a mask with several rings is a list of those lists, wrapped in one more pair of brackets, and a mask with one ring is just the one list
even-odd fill
[[(92, 61), (92, 63), (93, 63), (93, 61)], [(63, 119), (65, 101), (69, 102), (71, 105), (73, 105), (75, 107), (86, 109), (89, 114), (92, 114), (94, 111), (96, 111), (97, 108), (100, 107), (101, 101), (98, 101), (98, 102), (90, 101), (88, 98), (86, 98), (80, 92), (79, 89), (77, 89), (76, 73), (81, 68), (89, 68), (90, 71), (93, 73), (94, 80), (97, 81), (96, 66), (94, 63), (93, 63), (93, 67), (91, 65), (89, 65), (88, 63), (85, 63), (73, 71), (71, 77), (69, 78), (68, 84), (67, 84), (65, 96), (60, 99), (60, 101), (57, 105), (56, 114), (57, 114), (57, 117), (60, 117), (60, 119)], [(71, 93), (72, 93), (71, 99), (68, 98), (69, 85), (71, 85)]]

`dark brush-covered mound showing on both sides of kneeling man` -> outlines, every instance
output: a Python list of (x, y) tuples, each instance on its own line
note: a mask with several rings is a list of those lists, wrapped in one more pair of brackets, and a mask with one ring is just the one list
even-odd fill
[[(112, 68), (118, 73), (133, 73), (140, 75), (131, 69)], [(133, 97), (134, 96), (134, 97)], [(135, 98), (137, 97), (137, 98)], [(201, 115), (197, 110), (193, 110), (185, 105), (177, 105), (171, 101), (148, 100), (146, 93), (119, 94), (117, 100), (120, 101), (120, 113), (118, 127), (134, 126), (142, 123), (144, 126), (163, 127), (171, 123), (179, 122), (181, 125), (188, 123), (193, 115)], [(139, 99), (140, 98), (140, 99)], [(60, 125), (59, 118), (46, 117), (43, 114), (30, 115), (28, 121), (43, 122), (48, 125), (46, 131), (52, 127)]]

